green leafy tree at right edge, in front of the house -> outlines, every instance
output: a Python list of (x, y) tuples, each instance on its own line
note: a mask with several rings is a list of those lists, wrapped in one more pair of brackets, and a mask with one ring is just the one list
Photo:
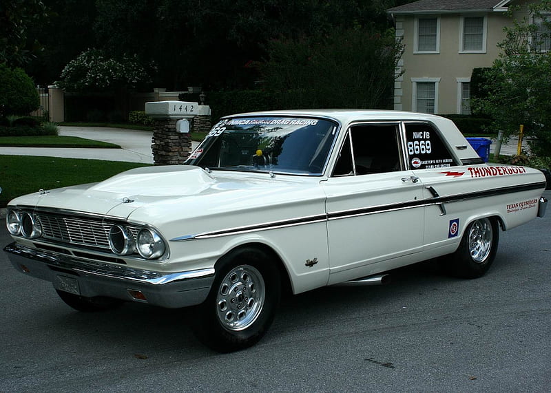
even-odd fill
[(531, 4), (527, 10), (529, 17), (506, 28), (506, 40), (499, 44), (503, 52), (485, 72), (488, 94), (473, 99), (472, 106), (490, 115), (492, 128), (502, 130), (505, 138), (524, 125), (525, 134), (533, 137), (532, 153), (551, 156), (551, 52), (537, 50), (541, 24), (533, 23), (541, 21), (551, 30), (545, 18), (551, 1)]

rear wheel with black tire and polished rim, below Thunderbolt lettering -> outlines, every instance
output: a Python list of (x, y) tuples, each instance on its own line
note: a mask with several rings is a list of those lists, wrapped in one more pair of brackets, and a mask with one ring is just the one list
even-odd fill
[(461, 238), (459, 248), (442, 261), (455, 277), (478, 278), (486, 274), (494, 262), (499, 243), (497, 220), (481, 218), (471, 222)]

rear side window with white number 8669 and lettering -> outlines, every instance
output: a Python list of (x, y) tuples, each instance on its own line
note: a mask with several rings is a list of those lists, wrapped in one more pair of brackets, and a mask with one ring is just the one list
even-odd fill
[(457, 165), (438, 132), (427, 124), (406, 123), (409, 169), (445, 168)]

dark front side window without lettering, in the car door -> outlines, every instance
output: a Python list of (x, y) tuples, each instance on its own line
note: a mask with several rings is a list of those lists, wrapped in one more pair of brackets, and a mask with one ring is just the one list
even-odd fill
[(355, 125), (349, 129), (333, 176), (402, 170), (396, 125)]

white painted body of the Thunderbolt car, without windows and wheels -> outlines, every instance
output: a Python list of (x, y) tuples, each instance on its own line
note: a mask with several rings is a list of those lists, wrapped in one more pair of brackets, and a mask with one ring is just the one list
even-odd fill
[[(541, 171), (528, 167), (465, 163), (331, 176), (347, 130), (362, 124), (426, 123), (441, 135), (457, 162), (478, 162), (476, 151), (446, 118), (364, 110), (271, 111), (233, 117), (249, 116), (334, 121), (337, 136), (323, 173), (297, 176), (194, 166), (143, 167), (97, 184), (24, 195), (8, 207), (103, 217), (155, 229), (165, 240), (167, 253), (158, 260), (118, 256), (129, 269), (159, 273), (216, 270), (220, 257), (234, 248), (261, 244), (279, 259), (293, 293), (453, 253), (466, 226), (481, 217), (497, 217), (503, 229), (511, 229), (538, 214), (538, 203), (532, 202), (539, 201), (545, 178)], [(403, 158), (407, 165), (409, 158)], [(457, 231), (450, 235), (454, 222)], [(27, 249), (43, 245), (48, 253), (66, 250), (74, 260), (79, 259), (74, 252), (83, 249), (42, 238), (13, 238)], [(83, 260), (90, 264), (94, 264), (94, 255), (98, 260), (110, 255), (93, 248), (86, 248), (86, 253)], [(12, 262), (21, 268), (21, 259)], [(132, 282), (127, 287), (132, 288)], [(84, 295), (112, 295), (102, 293), (100, 286), (85, 290)], [(150, 302), (167, 306), (162, 301)]]

